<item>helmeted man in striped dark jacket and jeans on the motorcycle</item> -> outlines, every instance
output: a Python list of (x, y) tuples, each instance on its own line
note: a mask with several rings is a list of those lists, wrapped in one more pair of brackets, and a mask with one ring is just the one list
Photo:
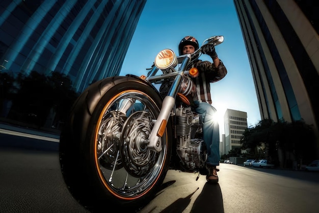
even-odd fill
[[(179, 55), (192, 54), (199, 49), (199, 43), (193, 36), (184, 37), (179, 45)], [(206, 180), (208, 183), (218, 183), (217, 165), (219, 165), (219, 124), (214, 117), (216, 109), (211, 105), (210, 83), (221, 80), (227, 74), (226, 67), (218, 58), (215, 46), (208, 45), (203, 51), (211, 57), (213, 63), (209, 61), (202, 61), (197, 59), (190, 66), (196, 67), (199, 70), (199, 75), (193, 78), (196, 87), (196, 94), (194, 96), (194, 108), (196, 113), (203, 117), (203, 137), (207, 147), (207, 168), (208, 175)], [(188, 67), (190, 69), (191, 67)]]

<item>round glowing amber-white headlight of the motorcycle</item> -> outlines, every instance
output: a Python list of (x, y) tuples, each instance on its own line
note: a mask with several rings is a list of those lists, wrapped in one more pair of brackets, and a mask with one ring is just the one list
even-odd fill
[(169, 67), (175, 67), (177, 65), (176, 54), (169, 49), (162, 50), (155, 58), (154, 64), (159, 69), (167, 69)]

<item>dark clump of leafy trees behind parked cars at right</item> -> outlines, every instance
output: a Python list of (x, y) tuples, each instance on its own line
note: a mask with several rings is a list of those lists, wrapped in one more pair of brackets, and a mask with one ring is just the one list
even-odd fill
[(281, 160), (284, 162), (305, 157), (313, 159), (317, 150), (315, 141), (312, 126), (304, 121), (287, 123), (284, 120), (273, 122), (267, 119), (260, 121), (253, 128), (246, 129), (240, 142), (242, 149), (255, 153), (256, 158), (266, 157), (278, 164), (278, 149), (281, 150)]

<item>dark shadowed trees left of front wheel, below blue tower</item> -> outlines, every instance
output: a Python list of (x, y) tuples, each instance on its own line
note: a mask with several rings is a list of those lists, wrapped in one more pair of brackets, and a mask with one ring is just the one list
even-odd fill
[[(63, 125), (78, 94), (69, 77), (57, 72), (45, 76), (33, 71), (29, 76), (19, 74), (18, 90), (13, 98), (9, 119), (40, 128), (51, 123)], [(48, 121), (48, 117), (54, 121)], [(46, 126), (50, 127), (50, 126)]]

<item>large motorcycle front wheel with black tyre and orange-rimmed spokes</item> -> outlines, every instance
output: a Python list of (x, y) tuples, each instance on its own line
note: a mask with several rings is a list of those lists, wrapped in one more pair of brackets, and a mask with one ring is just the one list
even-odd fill
[(162, 151), (145, 143), (162, 106), (146, 82), (107, 78), (75, 102), (60, 137), (61, 171), (73, 197), (91, 211), (138, 209), (158, 192), (169, 167), (171, 128)]

